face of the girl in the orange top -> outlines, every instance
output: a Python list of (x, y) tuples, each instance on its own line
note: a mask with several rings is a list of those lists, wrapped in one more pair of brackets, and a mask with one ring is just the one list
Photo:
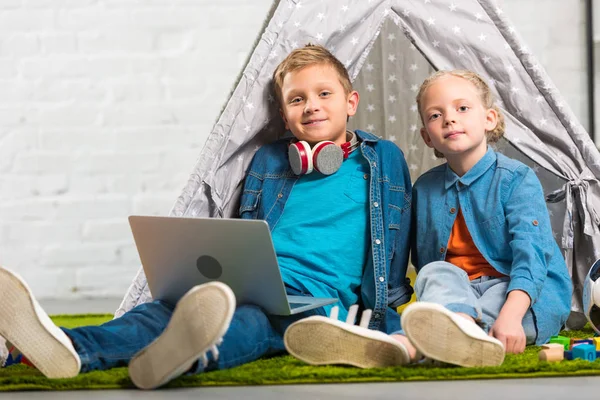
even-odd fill
[(486, 109), (475, 86), (466, 79), (444, 76), (423, 93), (421, 116), (425, 144), (450, 161), (453, 157), (483, 157), (486, 131), (496, 127), (498, 114)]

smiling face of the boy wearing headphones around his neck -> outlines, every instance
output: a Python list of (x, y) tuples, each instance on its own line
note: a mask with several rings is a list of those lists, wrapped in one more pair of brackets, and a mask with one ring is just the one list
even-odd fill
[(358, 93), (346, 94), (338, 73), (315, 64), (287, 74), (281, 87), (281, 116), (286, 129), (311, 146), (323, 140), (346, 142), (346, 121), (356, 113)]

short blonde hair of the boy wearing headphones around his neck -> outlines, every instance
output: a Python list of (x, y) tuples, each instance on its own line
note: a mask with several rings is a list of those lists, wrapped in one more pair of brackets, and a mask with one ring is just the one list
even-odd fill
[(338, 74), (340, 83), (346, 94), (352, 91), (352, 83), (348, 70), (340, 60), (335, 58), (329, 50), (318, 44), (307, 44), (304, 47), (292, 50), (290, 54), (275, 68), (273, 73), (273, 85), (275, 96), (279, 100), (279, 104), (283, 101), (281, 88), (285, 76), (291, 72), (298, 71), (311, 65), (324, 64), (331, 66)]

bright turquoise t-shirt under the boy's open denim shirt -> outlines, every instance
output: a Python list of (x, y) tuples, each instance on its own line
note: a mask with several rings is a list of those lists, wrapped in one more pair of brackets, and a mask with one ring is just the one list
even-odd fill
[(358, 300), (369, 250), (369, 173), (356, 150), (332, 175), (301, 176), (272, 231), (283, 281), (314, 297), (339, 298), (343, 320)]

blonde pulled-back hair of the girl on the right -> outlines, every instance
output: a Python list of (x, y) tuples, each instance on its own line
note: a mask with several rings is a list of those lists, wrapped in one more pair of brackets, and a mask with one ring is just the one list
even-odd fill
[[(488, 86), (488, 84), (485, 83), (485, 81), (483, 80), (483, 78), (481, 76), (479, 76), (478, 74), (476, 74), (473, 71), (468, 71), (468, 70), (463, 70), (463, 69), (455, 69), (455, 70), (451, 70), (451, 71), (441, 70), (441, 71), (437, 71), (436, 73), (431, 75), (429, 78), (425, 79), (423, 81), (423, 83), (421, 84), (419, 93), (417, 94), (417, 107), (419, 109), (421, 123), (423, 125), (425, 125), (425, 122), (423, 121), (423, 114), (421, 114), (421, 98), (423, 97), (423, 94), (429, 88), (429, 86), (431, 86), (435, 81), (437, 81), (438, 79), (443, 78), (445, 76), (456, 76), (457, 78), (463, 78), (463, 79), (471, 82), (473, 84), (473, 86), (475, 86), (475, 89), (477, 89), (477, 91), (479, 92), (479, 98), (481, 99), (481, 103), (483, 104), (483, 107), (485, 107), (486, 109), (492, 108), (492, 109), (496, 110), (496, 113), (498, 113), (498, 122), (494, 129), (486, 132), (486, 137), (487, 137), (488, 143), (496, 143), (498, 140), (500, 140), (500, 138), (502, 138), (502, 136), (504, 136), (504, 116), (500, 112), (500, 109), (498, 108), (498, 106), (496, 104), (494, 104), (494, 95), (492, 94), (492, 91), (490, 90), (490, 87)], [(436, 149), (434, 149), (434, 153), (438, 158), (444, 158), (444, 155), (442, 153), (440, 153), (439, 151), (437, 151)]]

